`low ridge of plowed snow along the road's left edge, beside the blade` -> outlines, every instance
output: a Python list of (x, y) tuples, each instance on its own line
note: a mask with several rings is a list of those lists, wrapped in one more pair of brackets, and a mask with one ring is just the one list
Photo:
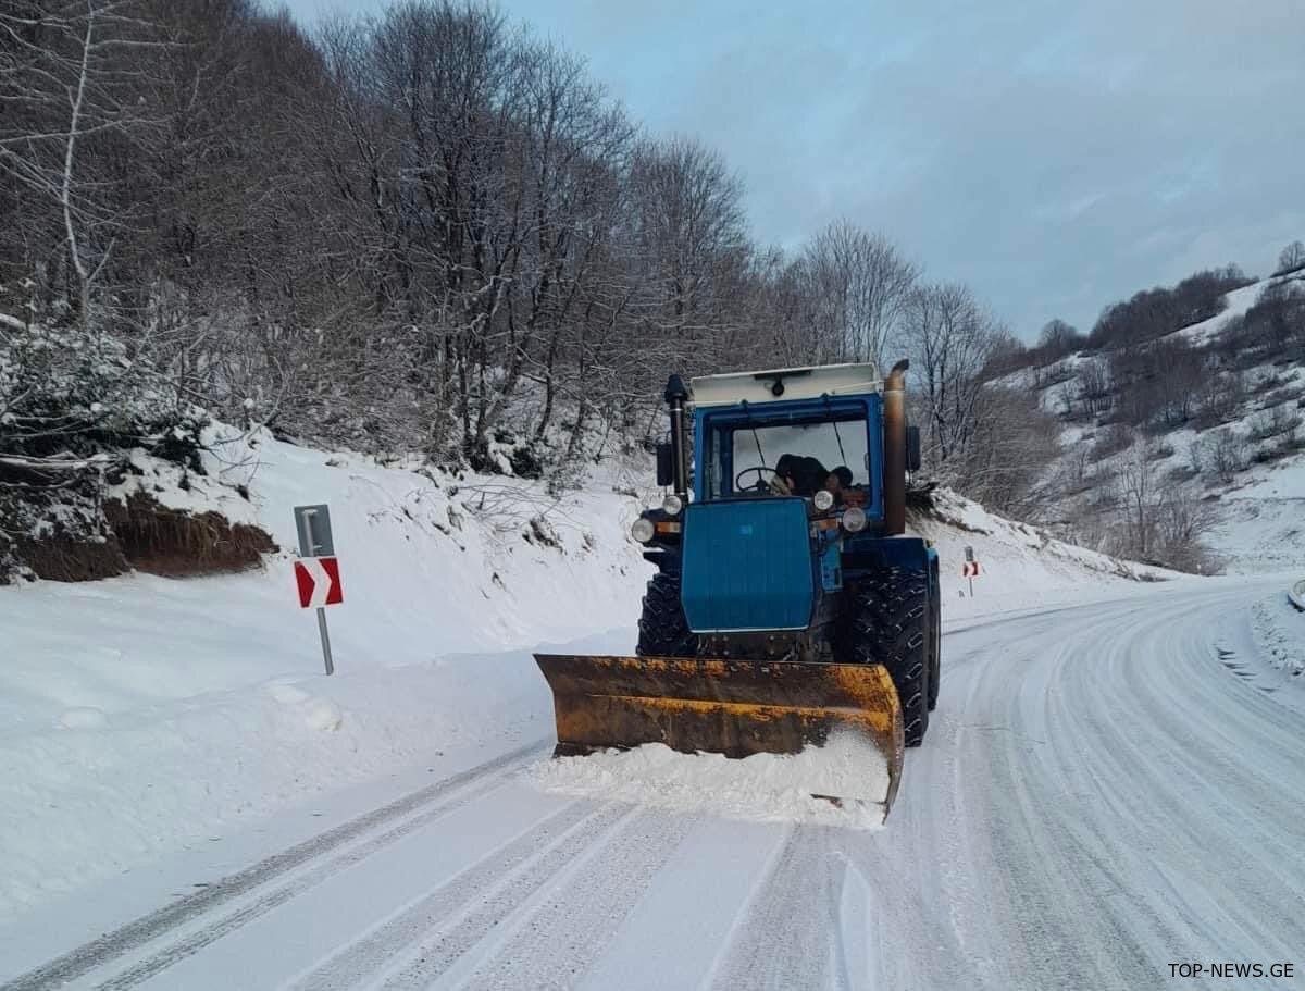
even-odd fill
[[(227, 648), (239, 657), (236, 638)], [(112, 713), (65, 709), (9, 732), (0, 917), (351, 782), (539, 739), (552, 709), (532, 669), (513, 653), (282, 675)]]

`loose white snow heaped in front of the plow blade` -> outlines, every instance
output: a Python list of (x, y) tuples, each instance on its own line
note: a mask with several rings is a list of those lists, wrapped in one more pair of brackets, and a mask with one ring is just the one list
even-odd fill
[[(887, 791), (883, 757), (865, 740), (840, 734), (801, 753), (677, 753), (660, 743), (589, 757), (540, 761), (529, 772), (544, 791), (707, 812), (763, 823), (817, 823), (877, 829)], [(842, 807), (814, 795), (837, 795)]]

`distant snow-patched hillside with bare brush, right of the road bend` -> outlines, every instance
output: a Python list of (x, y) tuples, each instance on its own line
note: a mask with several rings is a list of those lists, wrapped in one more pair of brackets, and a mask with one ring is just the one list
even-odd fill
[(1040, 521), (1188, 571), (1305, 563), (1302, 299), (1305, 270), (1275, 275), (1169, 333), (1079, 338), (997, 379), (1060, 422)]

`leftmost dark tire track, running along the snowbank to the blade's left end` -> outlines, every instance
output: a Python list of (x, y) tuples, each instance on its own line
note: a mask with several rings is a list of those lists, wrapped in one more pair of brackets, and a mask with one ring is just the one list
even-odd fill
[[(201, 918), (218, 906), (261, 888), (288, 871), (301, 867), (305, 863), (311, 863), (312, 860), (337, 850), (346, 843), (365, 836), (373, 829), (381, 828), (393, 820), (399, 820), (403, 816), (423, 810), (423, 807), (429, 806), (432, 802), (440, 802), (440, 799), (450, 796), (450, 802), (441, 803), (437, 808), (427, 810), (423, 816), (418, 817), (418, 820), (431, 821), (432, 817), (446, 815), (448, 811), (452, 811), (452, 808), (466, 804), (485, 791), (499, 787), (512, 770), (515, 770), (518, 766), (522, 766), (534, 759), (544, 746), (544, 740), (536, 740), (526, 744), (525, 747), (518, 747), (517, 749), (509, 751), (508, 753), (495, 757), (493, 760), (478, 764), (474, 768), (468, 768), (467, 770), (453, 774), (452, 777), (444, 778), (442, 781), (437, 781), (432, 785), (427, 785), (425, 787), (405, 795), (403, 798), (395, 799), (389, 804), (372, 810), (371, 812), (358, 816), (347, 823), (342, 823), (334, 829), (328, 829), (325, 833), (304, 840), (295, 846), (264, 858), (252, 867), (247, 867), (243, 871), (228, 875), (193, 894), (188, 894), (184, 898), (170, 902), (162, 909), (141, 915), (125, 926), (120, 926), (103, 936), (90, 940), (89, 943), (82, 944), (81, 947), (77, 947), (76, 949), (72, 949), (68, 953), (48, 961), (47, 964), (42, 964), (39, 967), (29, 970), (26, 974), (8, 982), (0, 987), (0, 991), (47, 991), (47, 988), (61, 987), (69, 981), (102, 967), (119, 957), (130, 953), (132, 951), (140, 949), (141, 947), (166, 936), (168, 932), (184, 926), (185, 923)], [(492, 779), (483, 781), (487, 776), (491, 776)], [(465, 789), (470, 789), (474, 794), (459, 795), (458, 793)], [(386, 843), (401, 838), (406, 833), (411, 832), (411, 829), (419, 828), (422, 823), (416, 820), (414, 821), (416, 823), (415, 825), (412, 823), (405, 823), (385, 833), (384, 837), (388, 837)], [(380, 840), (380, 837), (377, 837), (377, 840)], [(364, 849), (367, 849), (368, 853), (375, 853), (375, 850), (385, 845), (377, 843), (377, 840), (365, 845)], [(361, 857), (367, 854), (361, 854), (356, 859), (361, 859)], [(279, 892), (277, 894), (279, 894)], [(277, 897), (277, 894), (269, 897)], [(292, 897), (292, 894), (288, 897)], [(286, 898), (282, 898), (282, 901), (284, 900)], [(279, 905), (281, 901), (275, 904)], [(258, 905), (258, 902), (254, 905)], [(271, 907), (275, 907), (275, 905), (270, 905), (265, 910), (270, 910)], [(248, 909), (241, 909), (240, 911), (228, 915), (227, 920), (232, 917), (240, 918), (235, 924), (223, 930), (219, 935), (224, 935), (226, 932), (230, 932), (231, 928), (236, 928), (249, 919), (257, 918), (257, 915), (262, 914), (262, 911), (258, 911), (251, 915), (244, 915), (247, 910)], [(202, 936), (204, 934), (198, 935)], [(217, 937), (218, 936), (214, 936), (214, 939)], [(189, 941), (191, 940), (183, 940), (183, 944), (188, 944)], [(205, 940), (189, 948), (185, 953), (172, 956), (167, 964), (162, 964), (162, 966), (151, 969), (147, 974), (142, 973), (140, 977), (133, 978), (130, 983), (144, 981), (151, 974), (158, 973), (158, 970), (164, 966), (170, 966), (183, 956), (188, 956), (211, 941), (211, 939)], [(163, 953), (157, 954), (157, 957), (163, 957), (167, 953), (168, 951), (164, 951)], [(150, 960), (154, 958), (155, 957), (151, 957)], [(144, 965), (145, 964), (142, 962), (137, 966)], [(127, 973), (129, 974), (133, 971)], [(125, 977), (127, 974), (121, 974), (112, 978), (108, 983), (102, 984), (102, 987), (130, 987), (130, 983), (117, 983), (125, 979)]]

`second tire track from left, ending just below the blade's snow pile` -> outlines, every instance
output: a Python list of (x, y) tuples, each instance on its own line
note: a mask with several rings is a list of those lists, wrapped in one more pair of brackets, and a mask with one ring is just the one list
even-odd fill
[[(380, 926), (284, 987), (294, 991), (341, 991), (356, 987), (405, 949), (423, 937), (429, 939), (432, 932), (450, 923), (461, 920), (458, 928), (475, 930), (478, 926), (468, 923), (468, 906), (478, 897), (487, 902), (496, 901), (492, 892), (505, 879), (518, 873), (522, 877), (506, 887), (513, 896), (521, 894), (530, 885), (526, 877), (534, 872), (549, 876), (626, 815), (629, 810), (624, 806), (595, 808), (583, 800), (559, 810), (462, 873), (408, 902)], [(484, 907), (480, 911), (484, 913)], [(475, 911), (470, 914), (474, 915)]]

